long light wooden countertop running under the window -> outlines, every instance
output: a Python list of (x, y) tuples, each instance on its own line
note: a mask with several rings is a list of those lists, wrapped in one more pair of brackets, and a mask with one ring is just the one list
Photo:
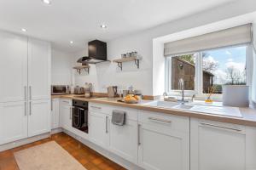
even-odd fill
[(129, 107), (129, 108), (144, 110), (144, 111), (155, 111), (155, 112), (172, 114), (177, 116), (189, 116), (189, 117), (195, 117), (200, 119), (207, 119), (211, 121), (228, 122), (228, 123), (235, 123), (240, 125), (256, 127), (256, 110), (253, 110), (251, 108), (239, 108), (241, 111), (242, 117), (232, 117), (232, 116), (211, 115), (211, 114), (195, 112), (195, 111), (182, 111), (182, 110), (175, 110), (175, 109), (160, 108), (160, 107), (154, 107), (151, 105), (142, 105), (143, 103), (147, 102), (146, 100), (143, 100), (142, 103), (139, 103), (139, 104), (125, 104), (122, 102), (118, 102), (117, 99), (115, 98), (85, 99), (85, 98), (81, 98), (81, 96), (83, 95), (78, 95), (78, 94), (52, 95), (52, 99), (55, 99), (55, 98), (79, 99), (79, 100), (84, 100), (84, 101), (98, 103), (98, 104)]

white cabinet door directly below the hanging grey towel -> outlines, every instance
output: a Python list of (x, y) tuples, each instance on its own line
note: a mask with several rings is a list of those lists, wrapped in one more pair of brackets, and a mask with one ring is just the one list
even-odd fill
[(137, 121), (127, 120), (124, 126), (114, 125), (109, 119), (109, 149), (124, 159), (137, 163)]

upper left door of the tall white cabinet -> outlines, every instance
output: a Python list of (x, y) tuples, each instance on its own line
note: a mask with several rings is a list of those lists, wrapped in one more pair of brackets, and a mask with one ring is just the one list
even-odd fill
[(0, 102), (26, 100), (27, 38), (0, 32)]

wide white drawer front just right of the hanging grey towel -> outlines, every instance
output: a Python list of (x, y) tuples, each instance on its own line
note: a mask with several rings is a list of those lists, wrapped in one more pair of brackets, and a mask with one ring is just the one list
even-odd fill
[(173, 116), (153, 111), (139, 111), (138, 121), (189, 133), (189, 117)]

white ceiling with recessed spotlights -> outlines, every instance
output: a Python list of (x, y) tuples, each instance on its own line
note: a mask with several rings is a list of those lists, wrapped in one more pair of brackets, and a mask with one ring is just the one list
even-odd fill
[(27, 35), (74, 52), (93, 39), (108, 42), (231, 1), (236, 0), (0, 0), (0, 29), (26, 28)]

